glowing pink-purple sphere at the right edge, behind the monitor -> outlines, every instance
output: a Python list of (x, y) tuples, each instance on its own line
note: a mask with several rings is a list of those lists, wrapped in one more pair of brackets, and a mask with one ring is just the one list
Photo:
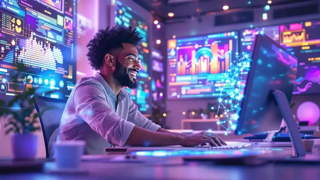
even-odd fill
[(297, 109), (299, 121), (308, 121), (309, 124), (315, 124), (320, 118), (320, 108), (314, 102), (303, 102)]

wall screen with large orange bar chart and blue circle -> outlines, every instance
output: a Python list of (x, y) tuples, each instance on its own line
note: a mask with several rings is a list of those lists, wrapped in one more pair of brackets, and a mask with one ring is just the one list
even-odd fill
[(220, 97), (236, 52), (237, 31), (168, 40), (167, 99)]

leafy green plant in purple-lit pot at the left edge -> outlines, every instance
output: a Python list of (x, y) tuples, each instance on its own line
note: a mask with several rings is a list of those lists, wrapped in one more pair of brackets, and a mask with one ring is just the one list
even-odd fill
[[(28, 83), (18, 80), (26, 79), (24, 75), (27, 73), (22, 74), (21, 72), (26, 72), (26, 67), (18, 64), (15, 75), (10, 77), (13, 81), (17, 81), (16, 84), (10, 84), (14, 90), (18, 90), (18, 86), (21, 84)], [(35, 88), (29, 88), (23, 93), (13, 96), (10, 100), (0, 100), (0, 117), (5, 120), (3, 122), (4, 128), (6, 128), (5, 134), (13, 133), (11, 137), (12, 155), (17, 160), (36, 158), (38, 136), (32, 133), (40, 130), (41, 126), (38, 123), (38, 114), (31, 99), (35, 91)]]

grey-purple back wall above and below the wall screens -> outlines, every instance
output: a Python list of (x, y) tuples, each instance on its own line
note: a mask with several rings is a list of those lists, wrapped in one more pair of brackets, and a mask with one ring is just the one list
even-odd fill
[[(307, 4), (307, 3), (306, 3)], [(290, 5), (292, 6), (292, 5)], [(286, 6), (276, 6), (276, 9), (281, 8), (288, 8)], [(262, 13), (264, 13), (263, 9), (255, 9), (255, 22), (254, 23), (247, 23), (247, 24), (236, 24), (236, 25), (228, 25), (228, 26), (214, 26), (214, 15), (208, 15), (202, 17), (202, 22), (199, 23), (197, 19), (195, 20), (186, 20), (185, 22), (180, 23), (168, 23), (165, 25), (166, 29), (166, 38), (172, 39), (172, 36), (175, 35), (176, 37), (186, 37), (191, 35), (201, 35), (201, 34), (209, 34), (209, 33), (216, 33), (216, 32), (224, 32), (230, 30), (240, 30), (250, 28), (250, 25), (253, 27), (261, 27), (261, 26), (269, 26), (269, 25), (279, 25), (282, 23), (291, 23), (291, 22), (300, 22), (303, 20), (312, 20), (316, 18), (320, 18), (320, 14), (317, 15), (306, 15), (306, 16), (298, 16), (294, 18), (285, 18), (279, 20), (272, 20), (272, 13), (273, 7), (268, 13), (268, 20), (262, 20)], [(193, 99), (193, 100), (167, 100), (166, 101), (166, 109), (171, 110), (166, 117), (166, 125), (171, 127), (172, 129), (180, 129), (180, 122), (181, 119), (186, 119), (186, 115), (183, 115), (182, 112), (190, 109), (204, 109), (207, 107), (208, 102), (215, 102), (216, 99)], [(215, 126), (213, 123), (206, 123), (206, 124), (194, 124), (192, 126), (193, 129), (197, 130), (206, 130)]]

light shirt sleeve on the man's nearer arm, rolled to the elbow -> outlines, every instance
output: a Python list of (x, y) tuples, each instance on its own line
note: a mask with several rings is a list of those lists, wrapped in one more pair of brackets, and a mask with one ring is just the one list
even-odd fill
[(76, 115), (112, 145), (124, 146), (135, 126), (110, 108), (106, 95), (93, 83), (76, 87), (73, 105)]

